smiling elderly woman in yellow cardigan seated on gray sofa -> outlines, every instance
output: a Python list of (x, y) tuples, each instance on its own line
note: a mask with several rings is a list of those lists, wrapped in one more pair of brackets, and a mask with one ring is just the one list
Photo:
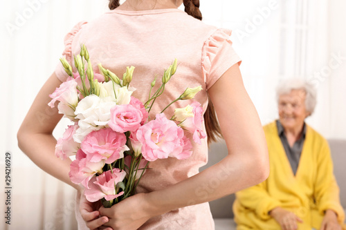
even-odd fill
[(271, 173), (236, 194), (237, 229), (346, 229), (328, 143), (304, 122), (316, 90), (290, 79), (277, 87), (277, 102), (280, 118), (264, 126)]

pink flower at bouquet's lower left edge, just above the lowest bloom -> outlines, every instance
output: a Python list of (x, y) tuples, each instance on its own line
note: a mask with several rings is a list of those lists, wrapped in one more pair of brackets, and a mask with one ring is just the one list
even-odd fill
[(71, 182), (75, 184), (82, 184), (84, 187), (88, 187), (89, 180), (96, 173), (102, 173), (104, 166), (104, 160), (100, 162), (89, 162), (86, 160), (86, 154), (82, 149), (79, 149), (75, 155), (75, 160), (71, 163), (69, 176)]

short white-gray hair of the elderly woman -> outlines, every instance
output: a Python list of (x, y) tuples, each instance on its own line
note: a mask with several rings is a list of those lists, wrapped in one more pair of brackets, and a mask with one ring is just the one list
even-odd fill
[(305, 96), (305, 108), (310, 113), (310, 115), (315, 110), (316, 106), (316, 88), (313, 84), (298, 78), (285, 79), (280, 82), (276, 88), (276, 99), (279, 102), (280, 95), (290, 93), (291, 90), (304, 90)]

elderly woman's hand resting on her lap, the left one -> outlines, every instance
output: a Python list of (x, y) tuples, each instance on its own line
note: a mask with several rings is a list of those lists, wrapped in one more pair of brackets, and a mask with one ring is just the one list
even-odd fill
[(296, 230), (298, 229), (297, 222), (302, 223), (302, 219), (298, 218), (297, 215), (281, 207), (271, 210), (270, 215), (280, 224), (282, 230)]

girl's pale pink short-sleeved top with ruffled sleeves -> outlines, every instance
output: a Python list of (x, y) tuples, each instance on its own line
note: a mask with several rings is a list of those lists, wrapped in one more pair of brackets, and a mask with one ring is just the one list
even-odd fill
[[(203, 90), (195, 101), (204, 110), (208, 105), (207, 90), (240, 59), (232, 48), (230, 30), (218, 29), (194, 19), (179, 9), (123, 11), (111, 10), (89, 23), (81, 22), (65, 37), (63, 55), (68, 61), (80, 52), (80, 44), (89, 50), (94, 70), (102, 63), (104, 68), (119, 77), (127, 66), (135, 66), (131, 86), (134, 96), (145, 102), (150, 83), (158, 76), (160, 86), (165, 68), (178, 59), (176, 74), (165, 87), (165, 93), (156, 99), (151, 115), (159, 113), (179, 97), (185, 88), (201, 85)], [(76, 70), (74, 70), (76, 71)], [(61, 64), (55, 70), (64, 81), (67, 75)], [(165, 111), (171, 117), (174, 108), (187, 106), (191, 101), (179, 101)], [(152, 115), (153, 116), (153, 115)], [(194, 153), (187, 160), (168, 158), (151, 162), (143, 176), (138, 192), (148, 193), (199, 173), (208, 161), (207, 140), (193, 144)], [(181, 191), (183, 193), (183, 191)], [(196, 195), (201, 195), (196, 191)], [(76, 212), (79, 229), (87, 229)], [(208, 203), (184, 207), (148, 220), (140, 229), (214, 229)]]

